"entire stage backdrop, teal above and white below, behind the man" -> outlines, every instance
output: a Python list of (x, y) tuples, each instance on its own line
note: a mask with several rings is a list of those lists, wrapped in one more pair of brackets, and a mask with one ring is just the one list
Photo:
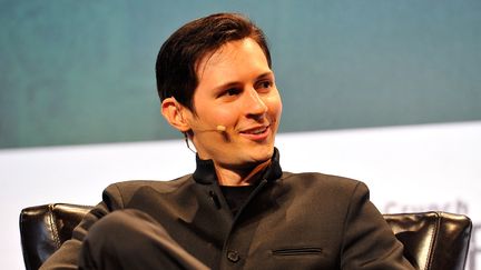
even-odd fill
[(2, 1), (6, 269), (23, 268), (21, 208), (95, 204), (112, 181), (193, 170), (159, 116), (154, 64), (175, 29), (219, 11), (268, 36), (286, 170), (363, 180), (383, 212), (469, 214), (467, 269), (481, 269), (478, 0)]

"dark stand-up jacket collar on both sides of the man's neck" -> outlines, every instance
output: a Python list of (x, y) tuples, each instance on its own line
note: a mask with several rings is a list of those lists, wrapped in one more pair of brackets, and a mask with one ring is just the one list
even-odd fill
[[(213, 160), (203, 160), (196, 154), (197, 168), (193, 173), (193, 178), (198, 183), (215, 183), (217, 181), (217, 174), (214, 169)], [(271, 164), (264, 170), (262, 179), (267, 181), (274, 181), (282, 176), (282, 168), (279, 163), (279, 152), (277, 148), (274, 148), (273, 157), (271, 158)]]

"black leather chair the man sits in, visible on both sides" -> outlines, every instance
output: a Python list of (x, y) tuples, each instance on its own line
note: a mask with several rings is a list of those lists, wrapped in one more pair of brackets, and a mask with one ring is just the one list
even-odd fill
[[(38, 269), (91, 209), (88, 206), (46, 204), (20, 213), (20, 234), (26, 268)], [(471, 220), (445, 212), (384, 214), (404, 256), (421, 270), (462, 270), (468, 256)]]

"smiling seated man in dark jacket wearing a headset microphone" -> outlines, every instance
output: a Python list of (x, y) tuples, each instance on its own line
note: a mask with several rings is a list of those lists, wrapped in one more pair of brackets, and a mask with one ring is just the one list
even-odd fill
[(271, 66), (263, 32), (239, 14), (177, 30), (157, 86), (197, 169), (109, 186), (42, 269), (412, 269), (365, 184), (281, 170)]

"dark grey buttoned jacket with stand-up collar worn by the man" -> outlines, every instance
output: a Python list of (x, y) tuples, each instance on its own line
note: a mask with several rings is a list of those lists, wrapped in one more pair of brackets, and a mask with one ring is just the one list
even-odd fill
[[(76, 268), (82, 239), (117, 209), (150, 214), (190, 254), (213, 269), (413, 269), (360, 181), (282, 172), (273, 157), (258, 187), (233, 217), (212, 161), (173, 181), (109, 186), (43, 269)], [(234, 254), (234, 257), (233, 257)]]

